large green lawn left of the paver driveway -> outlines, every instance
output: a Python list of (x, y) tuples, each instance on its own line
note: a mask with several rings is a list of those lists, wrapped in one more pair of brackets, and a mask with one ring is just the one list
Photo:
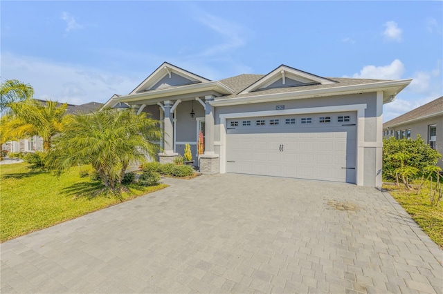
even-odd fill
[(1, 242), (167, 186), (129, 186), (128, 192), (116, 197), (97, 194), (103, 186), (89, 177), (80, 177), (84, 166), (73, 168), (59, 178), (29, 170), (27, 166), (25, 163), (0, 166)]

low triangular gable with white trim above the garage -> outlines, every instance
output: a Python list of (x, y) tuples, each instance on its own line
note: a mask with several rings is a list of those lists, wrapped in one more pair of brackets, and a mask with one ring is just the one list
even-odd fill
[(281, 65), (262, 77), (262, 79), (259, 79), (254, 84), (248, 86), (248, 88), (239, 92), (239, 94), (246, 94), (257, 90), (289, 88), (313, 84), (336, 84), (336, 81), (319, 77), (318, 75), (312, 75), (309, 72), (297, 70), (296, 68)]

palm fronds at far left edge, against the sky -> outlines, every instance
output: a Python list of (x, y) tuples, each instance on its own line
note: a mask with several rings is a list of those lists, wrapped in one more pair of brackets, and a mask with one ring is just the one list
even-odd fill
[(4, 112), (10, 104), (31, 99), (34, 89), (17, 79), (7, 79), (0, 85), (0, 112)]

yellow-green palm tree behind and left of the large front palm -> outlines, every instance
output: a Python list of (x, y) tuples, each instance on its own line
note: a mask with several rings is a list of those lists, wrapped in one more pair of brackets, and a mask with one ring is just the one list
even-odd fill
[(49, 150), (54, 135), (59, 133), (64, 126), (64, 115), (68, 105), (51, 100), (42, 103), (35, 99), (8, 105), (15, 118), (19, 119), (22, 125), (33, 127), (28, 135), (42, 137), (44, 150)]

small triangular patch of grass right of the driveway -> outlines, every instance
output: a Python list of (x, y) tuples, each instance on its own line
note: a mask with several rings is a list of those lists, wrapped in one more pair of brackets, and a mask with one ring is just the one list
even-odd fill
[(383, 185), (390, 195), (406, 210), (429, 237), (443, 249), (443, 200), (432, 206), (429, 199), (429, 184), (425, 184), (419, 195), (416, 190), (404, 186)]

